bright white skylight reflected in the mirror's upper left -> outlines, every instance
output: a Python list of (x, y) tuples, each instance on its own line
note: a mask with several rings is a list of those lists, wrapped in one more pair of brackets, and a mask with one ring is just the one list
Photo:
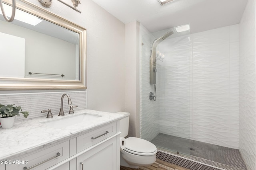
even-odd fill
[[(5, 8), (5, 11), (7, 12), (7, 16), (10, 17), (9, 14), (11, 14), (12, 12), (12, 7), (6, 4), (3, 4), (3, 6)], [(0, 14), (3, 15), (1, 11), (0, 11)], [(30, 15), (19, 9), (16, 9), (15, 20), (19, 20), (34, 26), (42, 21), (36, 16)]]

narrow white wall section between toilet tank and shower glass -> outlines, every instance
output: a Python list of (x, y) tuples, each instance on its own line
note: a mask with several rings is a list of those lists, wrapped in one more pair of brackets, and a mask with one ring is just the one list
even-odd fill
[(130, 113), (128, 136), (139, 137), (140, 127), (140, 23), (125, 24), (125, 111)]

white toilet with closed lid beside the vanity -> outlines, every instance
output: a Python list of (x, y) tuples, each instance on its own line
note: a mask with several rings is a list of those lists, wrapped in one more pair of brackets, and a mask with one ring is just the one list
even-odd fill
[[(126, 137), (129, 129), (130, 113), (117, 112), (125, 117), (120, 120), (120, 137)], [(120, 148), (120, 165), (130, 168), (147, 166), (156, 161), (156, 146), (149, 141), (136, 137), (125, 139), (125, 148)]]

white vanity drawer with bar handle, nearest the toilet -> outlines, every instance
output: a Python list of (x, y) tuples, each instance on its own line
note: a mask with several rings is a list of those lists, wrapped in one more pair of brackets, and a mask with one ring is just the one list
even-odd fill
[(77, 137), (77, 153), (116, 134), (116, 122)]

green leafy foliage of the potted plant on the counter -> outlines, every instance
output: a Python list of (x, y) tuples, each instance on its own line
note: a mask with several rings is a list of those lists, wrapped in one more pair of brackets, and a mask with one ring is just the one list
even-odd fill
[[(13, 116), (20, 116), (19, 113), (23, 113), (24, 117), (28, 117), (29, 112), (28, 111), (22, 111), (22, 107), (20, 106), (14, 106), (15, 104), (9, 104), (7, 106), (0, 104), (0, 113), (2, 114), (2, 117), (13, 117)], [(20, 111), (21, 109), (21, 111)]]

